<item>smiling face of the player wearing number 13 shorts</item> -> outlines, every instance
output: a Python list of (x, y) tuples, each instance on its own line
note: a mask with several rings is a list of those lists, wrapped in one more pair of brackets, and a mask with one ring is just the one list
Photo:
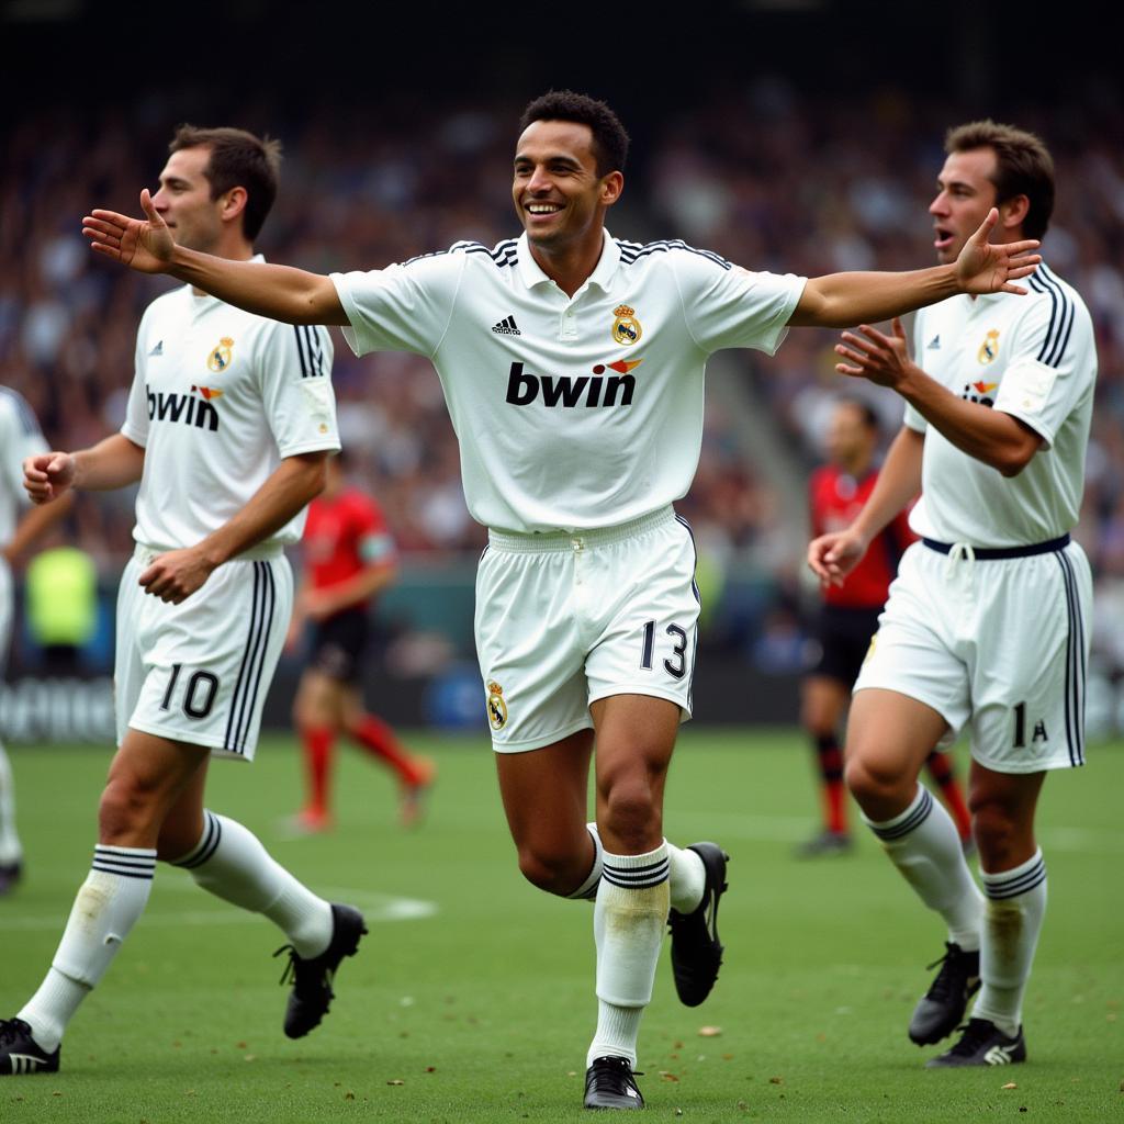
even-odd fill
[(547, 255), (600, 247), (624, 176), (598, 175), (592, 144), (589, 126), (575, 121), (534, 121), (519, 137), (511, 199), (532, 246)]

